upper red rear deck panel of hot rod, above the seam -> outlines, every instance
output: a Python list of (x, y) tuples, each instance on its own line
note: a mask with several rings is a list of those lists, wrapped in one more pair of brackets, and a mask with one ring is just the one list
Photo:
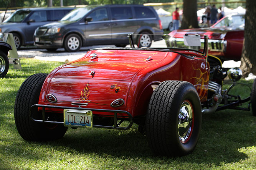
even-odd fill
[[(91, 59), (90, 55), (95, 54), (97, 58)], [(64, 65), (55, 77), (131, 81), (137, 71), (162, 60), (163, 54), (140, 50), (91, 50), (83, 58)], [(147, 61), (149, 57), (152, 60)]]

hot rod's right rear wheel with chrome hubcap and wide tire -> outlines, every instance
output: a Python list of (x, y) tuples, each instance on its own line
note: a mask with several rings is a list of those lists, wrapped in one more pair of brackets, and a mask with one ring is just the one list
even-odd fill
[(162, 82), (151, 96), (146, 115), (149, 146), (157, 155), (191, 153), (197, 145), (201, 119), (201, 102), (191, 83)]

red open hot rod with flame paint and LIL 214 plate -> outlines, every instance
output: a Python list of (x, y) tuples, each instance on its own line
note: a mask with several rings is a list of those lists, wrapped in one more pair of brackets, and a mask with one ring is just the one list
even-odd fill
[[(202, 112), (250, 110), (240, 105), (251, 99), (256, 115), (255, 81), (246, 99), (223, 90), (225, 76), (237, 81), (241, 70), (227, 71), (208, 56), (207, 36), (203, 52), (135, 48), (140, 35), (134, 36), (129, 35), (130, 48), (91, 49), (48, 75), (28, 77), (14, 108), (21, 137), (52, 140), (62, 138), (68, 127), (127, 130), (136, 123), (155, 154), (186, 155), (197, 145)], [(171, 43), (170, 36), (162, 38)], [(188, 38), (198, 42), (197, 35)]]

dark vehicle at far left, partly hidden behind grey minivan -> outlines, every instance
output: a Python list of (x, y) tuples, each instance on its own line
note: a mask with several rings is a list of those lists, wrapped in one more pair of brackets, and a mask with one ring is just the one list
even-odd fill
[(58, 21), (74, 8), (24, 8), (15, 11), (0, 24), (0, 32), (12, 33), (17, 49), (21, 45), (33, 45), (35, 29)]

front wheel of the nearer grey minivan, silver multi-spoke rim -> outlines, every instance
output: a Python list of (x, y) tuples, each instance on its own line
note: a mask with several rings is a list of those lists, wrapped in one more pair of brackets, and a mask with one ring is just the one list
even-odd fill
[(82, 40), (77, 34), (70, 34), (66, 37), (64, 48), (68, 52), (76, 52), (81, 48)]

